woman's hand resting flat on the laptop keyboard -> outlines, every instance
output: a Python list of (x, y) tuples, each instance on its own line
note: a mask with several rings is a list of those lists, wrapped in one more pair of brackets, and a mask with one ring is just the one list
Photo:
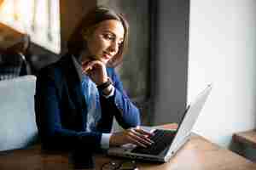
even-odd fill
[(113, 133), (109, 140), (110, 146), (119, 146), (122, 144), (136, 144), (146, 148), (147, 146), (154, 144), (154, 141), (149, 139), (153, 133), (144, 131), (141, 127), (131, 127), (125, 131)]

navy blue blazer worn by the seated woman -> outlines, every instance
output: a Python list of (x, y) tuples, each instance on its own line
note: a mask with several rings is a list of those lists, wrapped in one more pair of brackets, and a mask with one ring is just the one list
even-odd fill
[(119, 77), (113, 68), (107, 71), (115, 90), (108, 99), (100, 96), (102, 118), (97, 132), (85, 131), (86, 102), (72, 57), (67, 54), (39, 71), (35, 111), (44, 149), (71, 150), (84, 145), (99, 149), (102, 133), (110, 133), (112, 129), (113, 116), (124, 128), (140, 124), (139, 111), (125, 94)]

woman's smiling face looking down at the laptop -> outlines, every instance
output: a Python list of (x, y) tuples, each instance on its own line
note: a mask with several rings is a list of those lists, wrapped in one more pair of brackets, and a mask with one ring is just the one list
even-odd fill
[(104, 20), (96, 26), (96, 30), (85, 34), (90, 58), (100, 59), (107, 64), (119, 52), (124, 41), (124, 27), (118, 20)]

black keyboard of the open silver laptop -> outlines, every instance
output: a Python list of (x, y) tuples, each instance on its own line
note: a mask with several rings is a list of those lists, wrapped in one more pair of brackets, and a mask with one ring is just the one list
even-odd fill
[(154, 141), (154, 144), (151, 144), (147, 148), (142, 146), (137, 146), (134, 150), (131, 150), (133, 153), (139, 154), (149, 154), (149, 155), (158, 155), (162, 150), (166, 149), (166, 146), (172, 143), (175, 133), (168, 130), (159, 130), (154, 131), (154, 136), (149, 139)]

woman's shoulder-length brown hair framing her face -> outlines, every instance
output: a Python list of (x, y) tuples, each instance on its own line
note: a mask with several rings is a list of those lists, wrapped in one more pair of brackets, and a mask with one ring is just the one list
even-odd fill
[(76, 57), (78, 57), (84, 47), (86, 47), (86, 42), (82, 36), (83, 31), (96, 26), (104, 20), (119, 20), (125, 30), (124, 42), (120, 45), (118, 54), (108, 61), (109, 66), (118, 65), (123, 59), (123, 54), (125, 53), (125, 49), (128, 45), (129, 25), (123, 14), (117, 14), (107, 7), (97, 6), (96, 8), (90, 10), (89, 13), (84, 15), (67, 42), (68, 53), (74, 54)]

